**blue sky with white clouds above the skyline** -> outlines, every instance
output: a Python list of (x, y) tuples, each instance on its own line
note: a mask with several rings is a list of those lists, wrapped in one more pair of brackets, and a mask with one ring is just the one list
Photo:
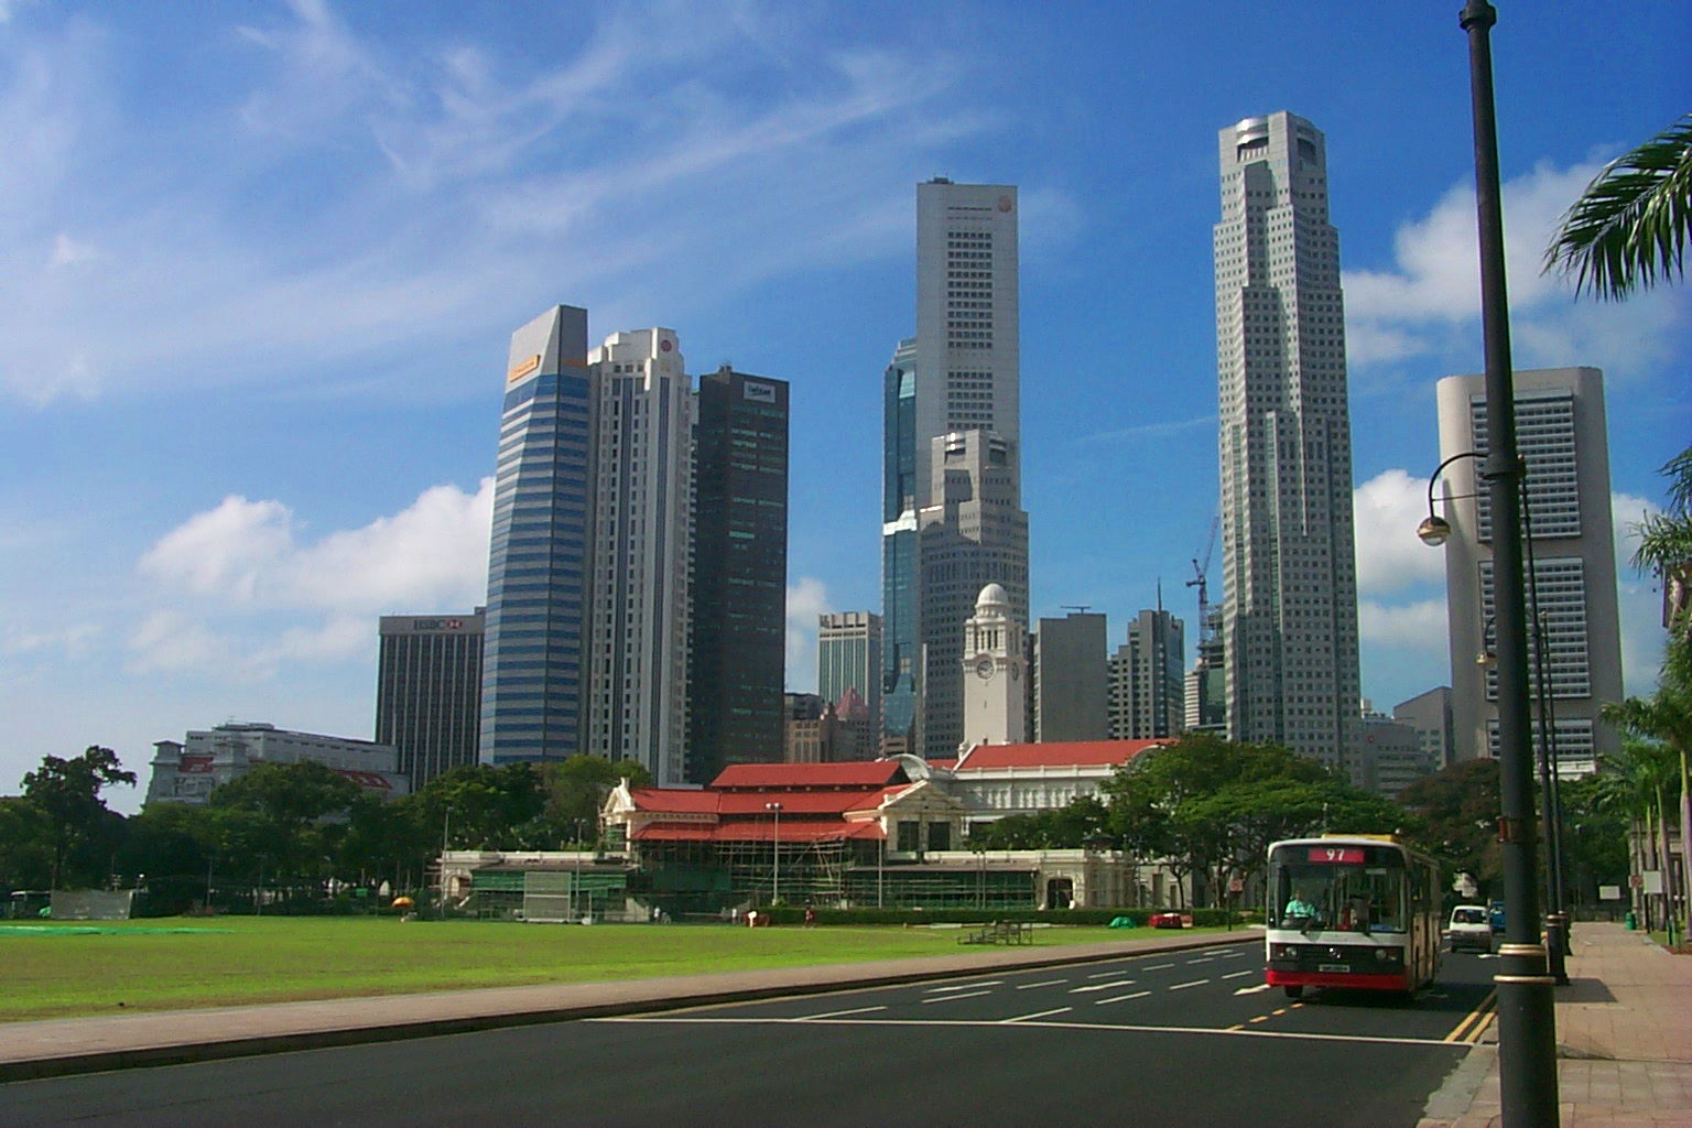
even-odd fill
[[(1684, 3), (1501, 3), (1518, 367), (1606, 370), (1618, 529), (1692, 436), (1687, 291), (1538, 274), (1692, 105)], [(1480, 367), (1460, 3), (0, 0), (0, 791), (227, 719), (369, 737), (376, 617), (486, 592), (506, 342), (553, 303), (792, 382), (788, 685), (876, 607), (880, 375), (915, 183), (1022, 194), (1037, 616), (1154, 605), (1217, 509), (1217, 130), (1328, 137), (1364, 693), (1440, 685), (1411, 533), (1433, 384)], [(1211, 565), (1220, 597), (1220, 556)], [(1623, 572), (1629, 692), (1656, 595)], [(139, 795), (115, 805), (134, 810)]]

